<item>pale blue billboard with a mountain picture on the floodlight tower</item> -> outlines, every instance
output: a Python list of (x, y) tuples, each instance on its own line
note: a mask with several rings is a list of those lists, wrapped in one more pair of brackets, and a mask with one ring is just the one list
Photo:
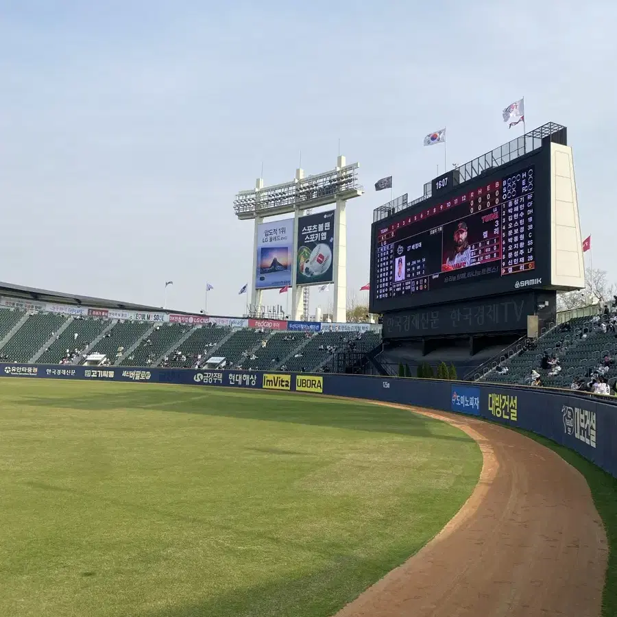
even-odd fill
[(256, 289), (291, 285), (293, 219), (268, 221), (257, 226)]

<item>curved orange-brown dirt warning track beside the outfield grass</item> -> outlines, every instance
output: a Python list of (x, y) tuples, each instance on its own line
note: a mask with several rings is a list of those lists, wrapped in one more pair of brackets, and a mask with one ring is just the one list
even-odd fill
[(599, 617), (607, 540), (583, 476), (503, 426), (413, 411), (478, 442), (479, 483), (431, 542), (337, 617)]

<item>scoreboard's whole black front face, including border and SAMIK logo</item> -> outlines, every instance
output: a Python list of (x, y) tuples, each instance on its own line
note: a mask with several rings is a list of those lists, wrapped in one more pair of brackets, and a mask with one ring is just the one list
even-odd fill
[(550, 254), (540, 245), (548, 243), (548, 173), (537, 156), (511, 167), (374, 223), (372, 311), (542, 285)]

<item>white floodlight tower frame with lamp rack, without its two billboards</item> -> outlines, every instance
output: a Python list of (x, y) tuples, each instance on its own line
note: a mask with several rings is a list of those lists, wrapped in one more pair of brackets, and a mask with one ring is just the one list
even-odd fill
[[(358, 169), (355, 162), (346, 165), (345, 157), (337, 158), (337, 166), (316, 176), (304, 177), (303, 169), (295, 170), (291, 182), (263, 186), (263, 178), (258, 178), (254, 189), (239, 191), (234, 198), (234, 213), (240, 220), (253, 219), (253, 271), (251, 279), (250, 316), (259, 316), (262, 307), (262, 289), (257, 286), (259, 225), (268, 217), (293, 213), (293, 243), (291, 255), (291, 319), (302, 318), (302, 290), (309, 285), (297, 285), (298, 236), (300, 219), (307, 210), (335, 204), (334, 241), (332, 247), (332, 284), (334, 285), (334, 321), (346, 322), (347, 296), (347, 222), (346, 206), (349, 199), (364, 193), (358, 182)], [(320, 280), (315, 285), (328, 281)], [(279, 286), (280, 287), (280, 286)], [(305, 316), (308, 319), (308, 315)]]

